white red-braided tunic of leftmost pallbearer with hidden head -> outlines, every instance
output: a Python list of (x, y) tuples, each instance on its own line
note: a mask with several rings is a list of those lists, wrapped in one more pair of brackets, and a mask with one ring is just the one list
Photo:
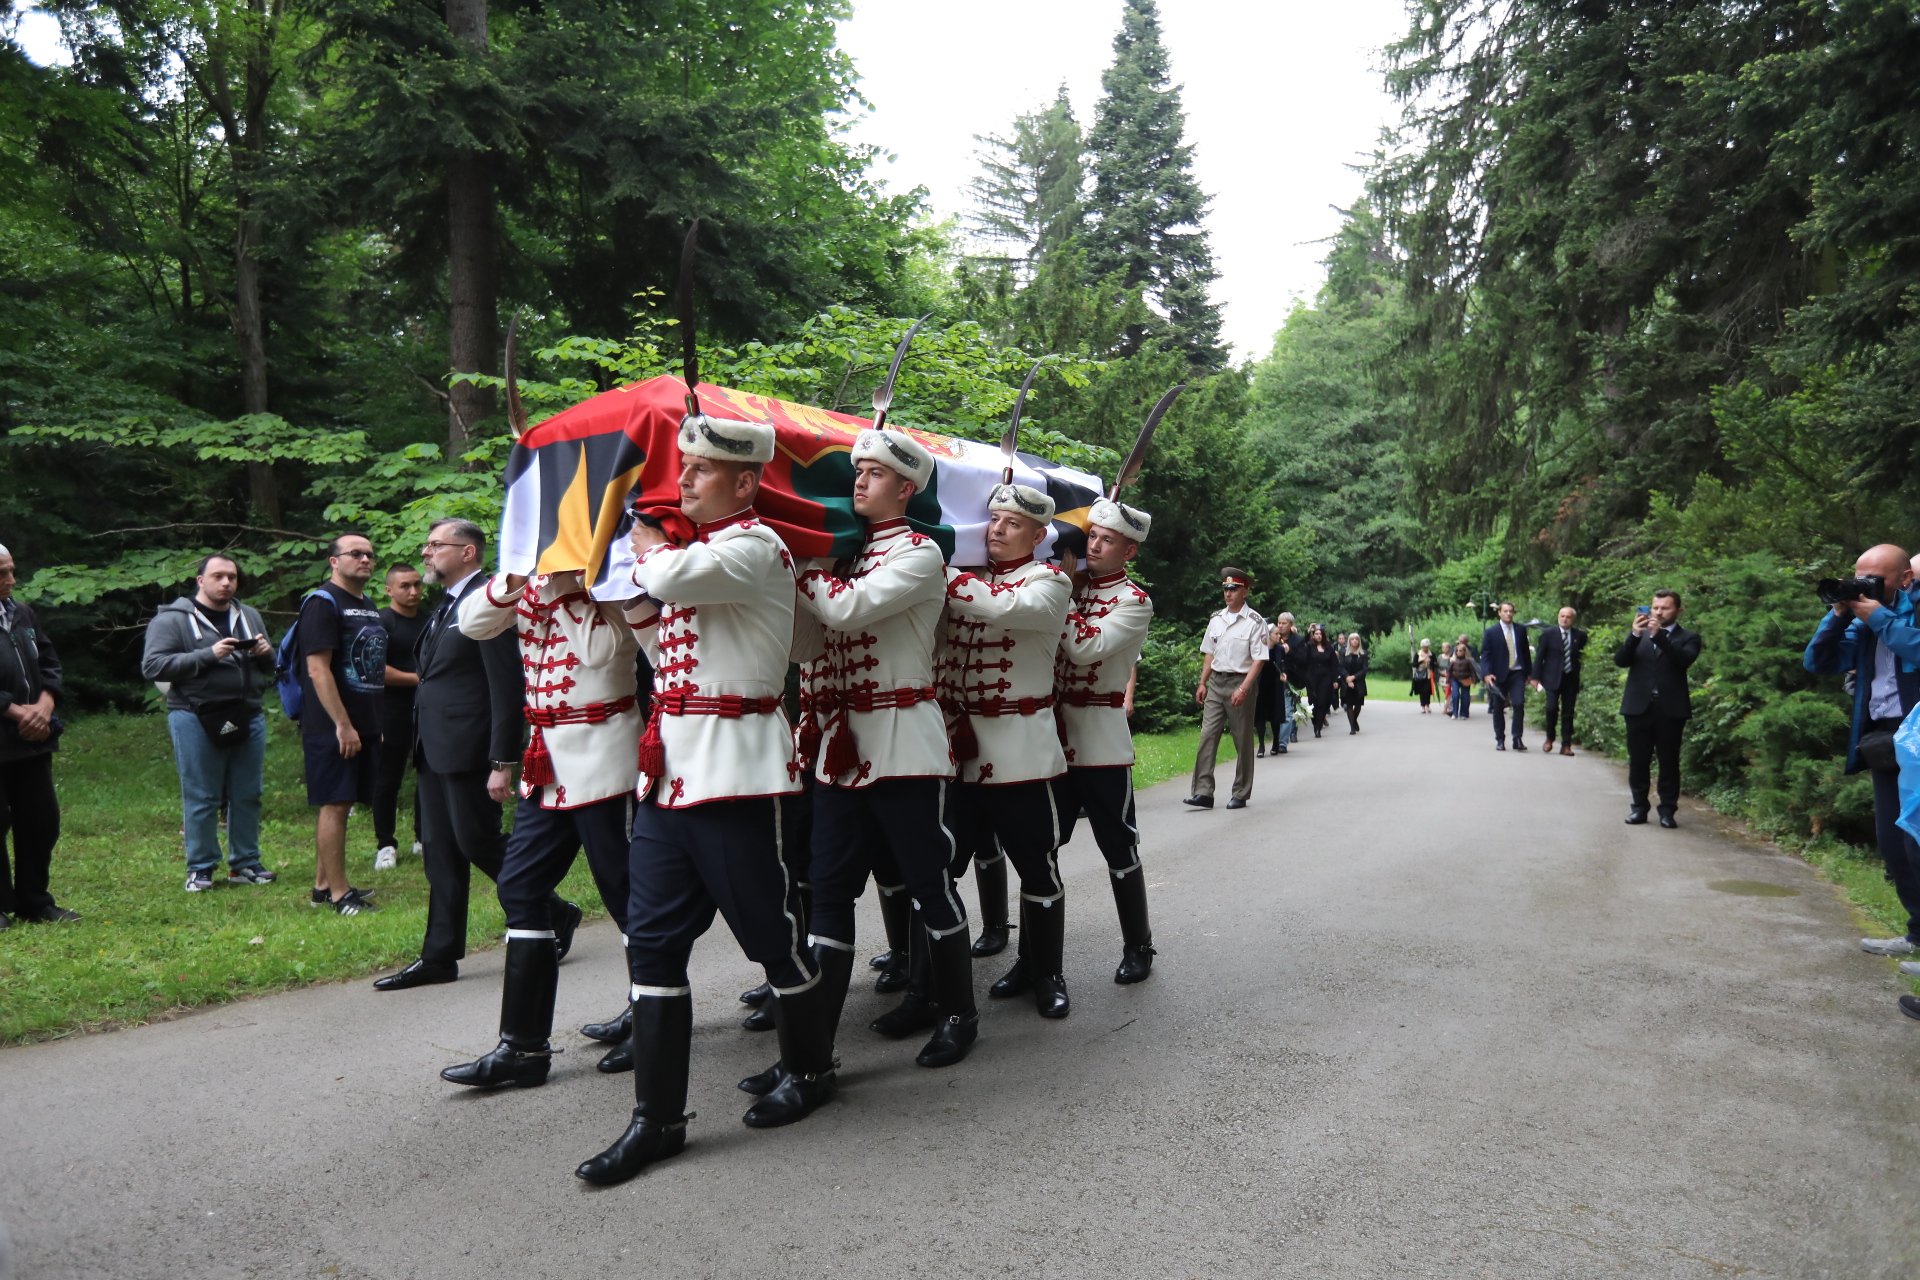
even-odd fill
[[(459, 628), (476, 641), (520, 629), (520, 670), (530, 720), (553, 758), (553, 783), (520, 779), (549, 810), (624, 794), (637, 775), (639, 643), (618, 604), (588, 597), (580, 574), (536, 574), (518, 591), (497, 574), (461, 601)], [(553, 723), (541, 723), (551, 720)]]

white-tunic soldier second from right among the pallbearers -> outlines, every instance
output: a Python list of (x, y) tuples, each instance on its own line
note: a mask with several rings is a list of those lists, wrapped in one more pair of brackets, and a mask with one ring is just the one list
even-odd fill
[(1041, 1017), (1066, 1017), (1058, 850), (1068, 762), (1052, 706), (1073, 587), (1064, 570), (1033, 558), (1054, 518), (1050, 497), (1002, 484), (987, 516), (991, 564), (947, 570), (943, 697), (954, 710), (962, 793), (950, 825), (964, 850), (991, 841), (1020, 873), (1020, 960), (987, 994), (1033, 992)]

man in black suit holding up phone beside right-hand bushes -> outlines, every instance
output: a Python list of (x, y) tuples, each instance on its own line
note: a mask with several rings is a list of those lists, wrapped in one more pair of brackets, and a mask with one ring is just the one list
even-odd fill
[(1697, 656), (1699, 631), (1680, 626), (1680, 593), (1667, 587), (1634, 614), (1634, 626), (1613, 652), (1615, 666), (1626, 668), (1620, 718), (1626, 720), (1626, 785), (1634, 793), (1634, 808), (1626, 816), (1630, 825), (1647, 819), (1655, 754), (1661, 760), (1661, 825), (1680, 825), (1674, 821), (1680, 808), (1680, 735), (1693, 714), (1686, 670)]

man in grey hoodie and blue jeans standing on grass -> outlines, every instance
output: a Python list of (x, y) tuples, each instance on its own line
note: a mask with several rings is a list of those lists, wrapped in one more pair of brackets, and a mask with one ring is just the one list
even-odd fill
[(261, 695), (275, 654), (259, 612), (234, 599), (240, 566), (200, 562), (198, 591), (165, 604), (146, 628), (140, 674), (167, 685), (167, 731), (186, 816), (186, 892), (213, 889), (227, 808), (227, 883), (271, 885), (259, 860), (259, 793), (267, 762)]

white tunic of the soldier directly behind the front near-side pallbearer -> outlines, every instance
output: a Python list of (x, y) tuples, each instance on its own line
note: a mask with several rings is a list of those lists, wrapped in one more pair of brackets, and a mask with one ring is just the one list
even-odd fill
[[(947, 604), (947, 564), (931, 537), (906, 520), (868, 528), (845, 576), (810, 568), (801, 610), (820, 620), (822, 658), (808, 672), (822, 747), (816, 777), (868, 787), (883, 777), (952, 777), (947, 720), (933, 689), (933, 643)], [(831, 775), (841, 725), (858, 762)]]

